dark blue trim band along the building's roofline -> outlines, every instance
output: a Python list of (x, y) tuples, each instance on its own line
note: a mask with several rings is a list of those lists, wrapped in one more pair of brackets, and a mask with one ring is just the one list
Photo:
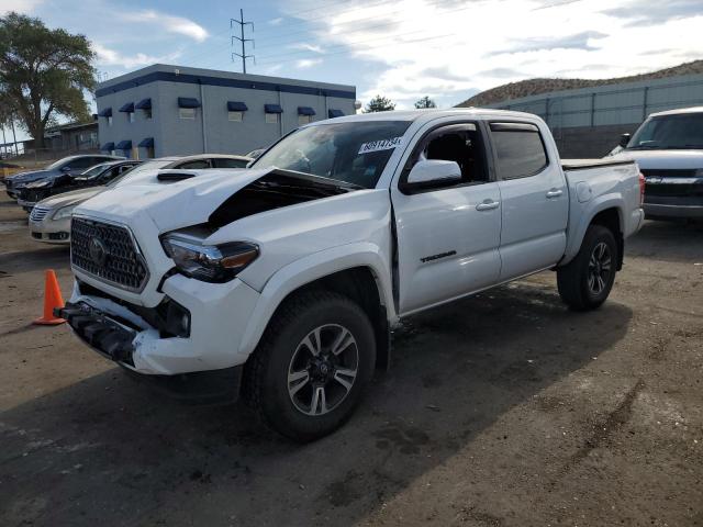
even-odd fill
[(96, 97), (103, 97), (110, 93), (118, 93), (120, 91), (130, 90), (137, 86), (148, 85), (149, 82), (181, 82), (185, 85), (204, 85), (204, 86), (221, 86), (226, 88), (244, 88), (247, 90), (264, 90), (264, 91), (280, 91), (283, 93), (300, 93), (306, 96), (325, 96), (336, 97), (339, 99), (356, 99), (356, 91), (344, 91), (326, 88), (315, 88), (309, 86), (295, 86), (287, 83), (275, 82), (258, 82), (255, 80), (241, 80), (241, 79), (227, 79), (223, 77), (212, 77), (208, 75), (188, 75), (170, 71), (154, 71), (152, 74), (136, 77), (131, 80), (118, 82), (116, 85), (100, 88), (96, 91)]

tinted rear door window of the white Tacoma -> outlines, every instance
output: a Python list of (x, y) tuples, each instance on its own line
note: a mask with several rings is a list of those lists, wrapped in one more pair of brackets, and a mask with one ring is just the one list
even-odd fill
[(491, 123), (498, 173), (502, 179), (527, 178), (549, 164), (539, 128), (529, 123)]

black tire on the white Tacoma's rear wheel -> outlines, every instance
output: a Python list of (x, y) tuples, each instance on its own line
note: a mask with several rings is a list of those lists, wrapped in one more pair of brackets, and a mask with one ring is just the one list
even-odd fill
[[(610, 259), (610, 269), (604, 272), (605, 266), (594, 267), (592, 260), (596, 256), (594, 251), (605, 246), (605, 253)], [(596, 256), (596, 260), (599, 260)], [(595, 261), (596, 261), (595, 260)], [(583, 237), (579, 254), (563, 267), (557, 268), (557, 285), (561, 300), (574, 311), (589, 311), (598, 309), (611, 293), (615, 272), (617, 270), (617, 243), (613, 233), (602, 225), (591, 225)], [(601, 280), (593, 280), (593, 273), (599, 272)], [(602, 281), (602, 283), (600, 283)], [(595, 283), (595, 288), (593, 287)]]

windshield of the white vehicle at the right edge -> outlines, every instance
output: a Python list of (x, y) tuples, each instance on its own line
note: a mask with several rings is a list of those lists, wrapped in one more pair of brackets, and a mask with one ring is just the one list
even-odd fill
[(703, 113), (651, 117), (637, 130), (627, 149), (703, 148)]

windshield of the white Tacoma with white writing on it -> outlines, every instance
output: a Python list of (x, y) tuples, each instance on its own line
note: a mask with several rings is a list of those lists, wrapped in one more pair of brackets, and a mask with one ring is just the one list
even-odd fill
[(356, 121), (299, 128), (252, 167), (277, 167), (372, 189), (410, 123)]

